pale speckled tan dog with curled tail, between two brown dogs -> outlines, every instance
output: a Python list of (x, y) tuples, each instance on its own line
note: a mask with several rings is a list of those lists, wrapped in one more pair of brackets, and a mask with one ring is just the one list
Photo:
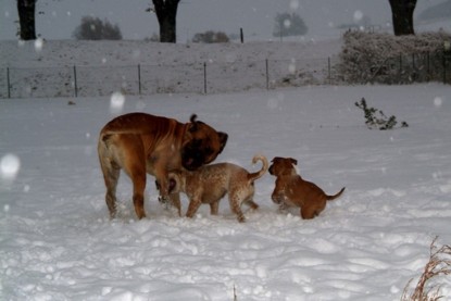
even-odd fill
[(202, 203), (210, 204), (211, 214), (216, 215), (220, 200), (228, 192), (230, 210), (237, 214), (240, 223), (245, 222), (241, 204), (247, 203), (253, 210), (259, 208), (253, 201), (253, 183), (266, 173), (268, 166), (265, 156), (255, 155), (252, 163), (258, 161), (263, 166), (252, 174), (231, 163), (204, 165), (195, 172), (171, 173), (170, 177), (176, 183), (174, 192), (183, 191), (190, 200), (186, 216), (192, 217)]

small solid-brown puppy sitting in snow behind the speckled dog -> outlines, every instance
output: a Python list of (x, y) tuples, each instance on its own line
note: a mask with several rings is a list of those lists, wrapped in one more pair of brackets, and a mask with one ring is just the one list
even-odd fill
[(343, 187), (337, 195), (327, 196), (315, 184), (303, 180), (296, 173), (295, 165), (298, 161), (292, 158), (276, 156), (272, 162), (270, 174), (276, 176), (277, 179), (271, 198), (281, 208), (300, 206), (301, 216), (304, 220), (317, 216), (326, 208), (327, 201), (340, 197), (344, 191)]

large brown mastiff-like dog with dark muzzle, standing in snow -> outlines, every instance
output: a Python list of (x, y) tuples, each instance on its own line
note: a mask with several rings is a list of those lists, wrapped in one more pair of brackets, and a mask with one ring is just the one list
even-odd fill
[[(156, 177), (160, 196), (167, 200), (170, 171), (183, 167), (192, 171), (216, 159), (226, 145), (227, 134), (196, 118), (192, 115), (189, 123), (183, 124), (172, 118), (130, 113), (112, 120), (102, 128), (98, 152), (111, 217), (116, 214), (121, 168), (131, 178), (135, 212), (142, 218), (146, 216), (146, 173)], [(179, 197), (173, 195), (172, 201), (180, 213)]]

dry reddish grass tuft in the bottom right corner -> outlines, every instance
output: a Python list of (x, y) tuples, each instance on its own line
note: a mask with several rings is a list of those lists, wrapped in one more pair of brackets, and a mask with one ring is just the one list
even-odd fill
[(412, 294), (409, 296), (408, 288), (413, 279), (411, 279), (404, 288), (401, 301), (437, 301), (443, 296), (440, 296), (440, 286), (433, 286), (427, 288), (427, 283), (438, 276), (451, 275), (451, 247), (446, 244), (440, 248), (437, 247), (436, 237), (430, 243), (429, 262), (426, 264), (422, 276), (414, 288)]

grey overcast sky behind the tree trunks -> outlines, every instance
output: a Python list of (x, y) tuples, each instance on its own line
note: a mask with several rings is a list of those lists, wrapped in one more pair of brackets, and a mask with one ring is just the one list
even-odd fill
[[(38, 0), (36, 32), (46, 39), (71, 39), (83, 16), (98, 16), (117, 24), (124, 39), (143, 39), (159, 33), (156, 16), (146, 12), (151, 0)], [(418, 0), (415, 14), (443, 0)], [(16, 0), (0, 0), (0, 39), (16, 39)], [(209, 29), (226, 34), (245, 30), (245, 38), (270, 40), (277, 13), (296, 12), (309, 27), (306, 38), (339, 36), (336, 26), (362, 16), (373, 25), (391, 28), (388, 0), (181, 0), (177, 41), (186, 42)]]

